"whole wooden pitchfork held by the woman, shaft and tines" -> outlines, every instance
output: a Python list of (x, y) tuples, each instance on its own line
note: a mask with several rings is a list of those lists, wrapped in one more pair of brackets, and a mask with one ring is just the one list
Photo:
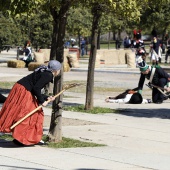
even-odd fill
[[(68, 84), (68, 85), (64, 85), (63, 90), (61, 90), (58, 94), (56, 94), (54, 96), (54, 98), (58, 97), (60, 94), (62, 94), (64, 91), (76, 87), (76, 86), (81, 86), (83, 84), (80, 83), (72, 83), (72, 84)], [(51, 100), (47, 100), (47, 103), (51, 102)], [(21, 118), (20, 120), (18, 120), (16, 123), (14, 123), (10, 129), (12, 130), (13, 128), (15, 128), (17, 125), (19, 125), (22, 121), (24, 121), (26, 118), (28, 118), (29, 116), (31, 116), (32, 114), (34, 114), (37, 110), (39, 110), (40, 108), (42, 108), (43, 106), (40, 105), (38, 106), (36, 109), (34, 109), (33, 111), (31, 111), (30, 113), (28, 113), (27, 115), (25, 115), (23, 118)]]

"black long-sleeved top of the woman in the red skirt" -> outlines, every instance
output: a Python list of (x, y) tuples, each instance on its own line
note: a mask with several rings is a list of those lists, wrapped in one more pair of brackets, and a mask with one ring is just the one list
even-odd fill
[(53, 74), (50, 71), (38, 71), (20, 79), (17, 83), (23, 85), (28, 91), (37, 97), (39, 104), (44, 103), (47, 96), (41, 94), (41, 90), (49, 82), (53, 82)]

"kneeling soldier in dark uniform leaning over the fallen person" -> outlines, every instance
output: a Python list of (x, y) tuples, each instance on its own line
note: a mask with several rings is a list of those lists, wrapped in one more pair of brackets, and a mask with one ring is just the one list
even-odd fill
[(160, 66), (153, 67), (147, 65), (142, 58), (138, 59), (137, 64), (141, 71), (138, 83), (138, 92), (142, 93), (145, 78), (148, 79), (149, 83), (153, 84), (152, 86), (153, 103), (161, 104), (163, 100), (167, 99), (165, 98), (164, 90), (170, 92), (170, 76)]

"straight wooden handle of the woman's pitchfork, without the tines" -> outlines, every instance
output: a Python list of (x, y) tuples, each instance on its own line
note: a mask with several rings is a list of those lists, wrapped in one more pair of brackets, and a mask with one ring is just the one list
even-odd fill
[[(58, 94), (56, 94), (54, 96), (54, 98), (58, 97), (60, 94), (62, 94), (66, 89), (63, 89), (62, 91), (60, 91)], [(51, 100), (47, 100), (47, 103), (51, 102)], [(17, 125), (19, 125), (22, 121), (24, 121), (26, 118), (28, 118), (29, 116), (31, 116), (32, 114), (34, 114), (37, 110), (41, 109), (43, 106), (40, 105), (38, 106), (36, 109), (34, 109), (33, 111), (31, 111), (30, 113), (28, 113), (27, 115), (25, 115), (23, 118), (21, 118), (20, 120), (18, 120), (16, 123), (14, 123), (10, 129), (12, 130), (14, 127), (16, 127)]]

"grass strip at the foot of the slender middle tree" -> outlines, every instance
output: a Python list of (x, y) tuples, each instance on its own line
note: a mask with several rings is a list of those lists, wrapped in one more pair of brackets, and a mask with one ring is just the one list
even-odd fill
[(63, 110), (73, 111), (73, 112), (92, 113), (92, 114), (116, 113), (116, 110), (110, 108), (93, 107), (93, 109), (91, 110), (85, 110), (84, 108), (85, 108), (84, 105), (64, 106)]

